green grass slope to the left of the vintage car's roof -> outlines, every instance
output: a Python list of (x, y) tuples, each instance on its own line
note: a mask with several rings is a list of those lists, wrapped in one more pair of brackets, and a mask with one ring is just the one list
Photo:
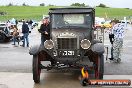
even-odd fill
[(8, 20), (11, 18), (20, 19), (42, 19), (43, 14), (48, 14), (50, 7), (35, 6), (1, 6), (0, 12), (6, 12), (7, 15), (0, 16), (0, 20)]

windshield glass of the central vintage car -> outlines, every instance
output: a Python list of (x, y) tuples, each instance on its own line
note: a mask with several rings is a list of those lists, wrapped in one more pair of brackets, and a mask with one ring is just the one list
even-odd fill
[(52, 28), (90, 28), (90, 14), (53, 14)]

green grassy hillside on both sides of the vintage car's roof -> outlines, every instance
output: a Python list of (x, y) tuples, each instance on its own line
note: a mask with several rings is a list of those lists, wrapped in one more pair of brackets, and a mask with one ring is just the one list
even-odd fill
[[(53, 7), (53, 6), (52, 6)], [(11, 18), (20, 19), (42, 19), (42, 15), (48, 14), (48, 9), (51, 6), (0, 6), (0, 12), (6, 12), (4, 16), (0, 16), (0, 21), (5, 21)], [(108, 18), (123, 18), (124, 16), (132, 16), (132, 9), (121, 8), (95, 8), (95, 14), (99, 17)]]

